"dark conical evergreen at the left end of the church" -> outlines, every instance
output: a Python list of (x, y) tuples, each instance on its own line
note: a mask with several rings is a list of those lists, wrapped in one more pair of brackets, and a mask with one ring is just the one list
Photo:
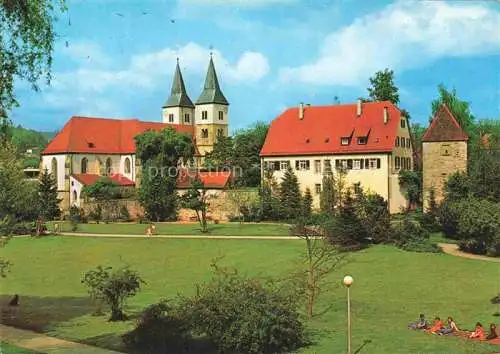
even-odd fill
[(40, 175), (40, 183), (38, 184), (38, 209), (39, 214), (45, 220), (54, 220), (61, 216), (61, 209), (59, 203), (62, 199), (57, 197), (57, 181), (44, 169)]

